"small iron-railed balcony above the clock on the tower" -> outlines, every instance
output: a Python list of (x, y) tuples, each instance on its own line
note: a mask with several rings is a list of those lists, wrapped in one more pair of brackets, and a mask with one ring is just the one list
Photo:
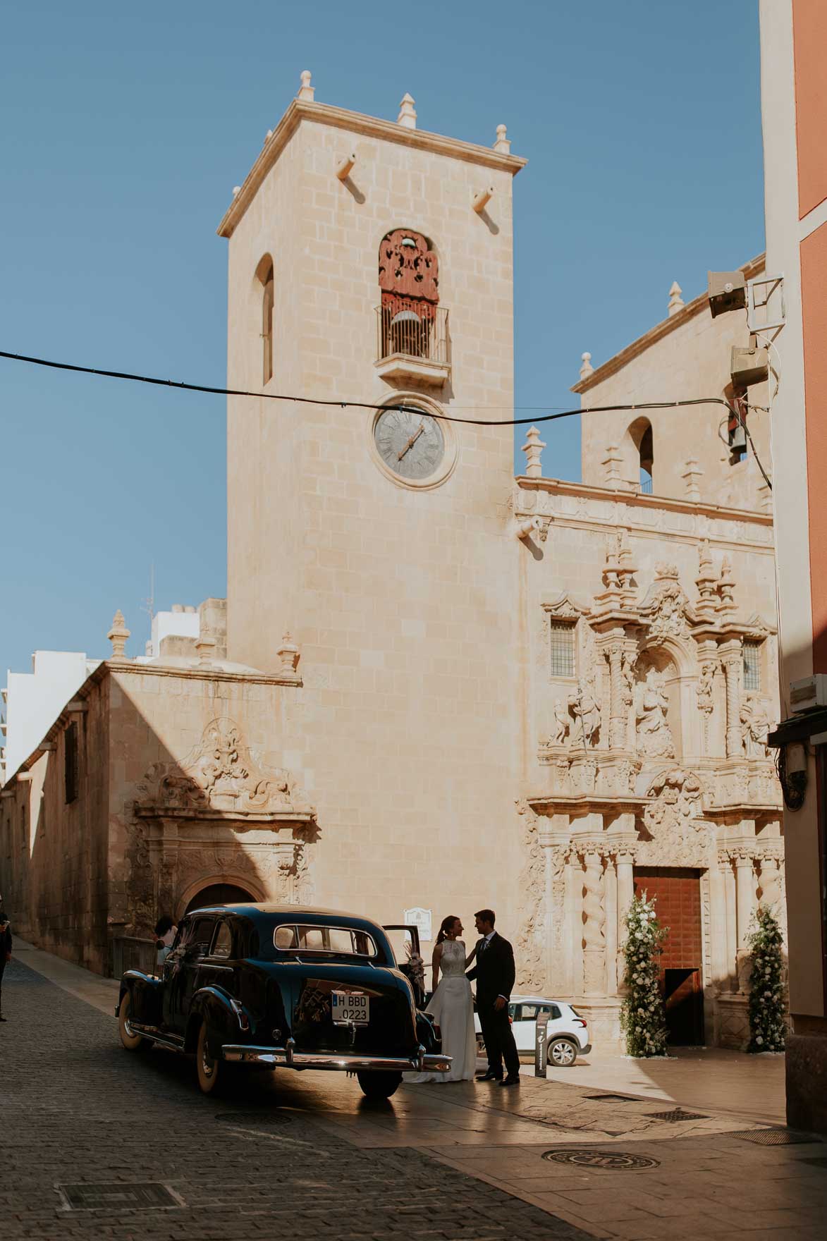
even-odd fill
[(451, 375), (446, 307), (376, 307), (376, 371), (386, 380), (442, 385)]

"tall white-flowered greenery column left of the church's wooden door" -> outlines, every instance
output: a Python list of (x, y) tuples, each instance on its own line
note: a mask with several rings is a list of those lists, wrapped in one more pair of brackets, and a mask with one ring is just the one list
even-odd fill
[(654, 900), (647, 900), (646, 892), (636, 896), (626, 915), (626, 994), (621, 1006), (621, 1029), (626, 1035), (626, 1054), (630, 1056), (667, 1054), (658, 957), (668, 933), (669, 928), (658, 922)]

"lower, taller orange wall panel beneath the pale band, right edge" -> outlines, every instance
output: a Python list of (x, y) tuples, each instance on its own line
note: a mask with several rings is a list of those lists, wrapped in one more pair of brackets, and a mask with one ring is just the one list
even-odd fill
[(827, 225), (801, 242), (813, 670), (827, 673)]

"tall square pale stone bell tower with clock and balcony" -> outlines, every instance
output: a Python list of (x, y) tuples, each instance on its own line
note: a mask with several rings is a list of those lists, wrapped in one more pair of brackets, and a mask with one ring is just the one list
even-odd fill
[(524, 163), (504, 125), (426, 133), (407, 94), (360, 115), (305, 72), (219, 228), (228, 386), (263, 393), (228, 401), (227, 655), (276, 669), (291, 632), (278, 727), (329, 840), (318, 896), (354, 903), (353, 867), (387, 917), (456, 903), (446, 848), (510, 898), (487, 849), (517, 795), (513, 432), (440, 416), (510, 417)]

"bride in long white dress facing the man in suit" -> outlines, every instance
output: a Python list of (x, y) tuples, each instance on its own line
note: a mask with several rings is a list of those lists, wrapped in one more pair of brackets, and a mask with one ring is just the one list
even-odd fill
[[(442, 1035), (442, 1050), (453, 1057), (447, 1073), (404, 1073), (406, 1082), (469, 1082), (477, 1067), (477, 1036), (471, 983), (466, 969), (474, 958), (474, 948), (466, 959), (466, 946), (459, 938), (462, 921), (453, 915), (442, 920), (431, 964), (433, 995), (426, 1008)], [(440, 979), (440, 973), (442, 979)]]

